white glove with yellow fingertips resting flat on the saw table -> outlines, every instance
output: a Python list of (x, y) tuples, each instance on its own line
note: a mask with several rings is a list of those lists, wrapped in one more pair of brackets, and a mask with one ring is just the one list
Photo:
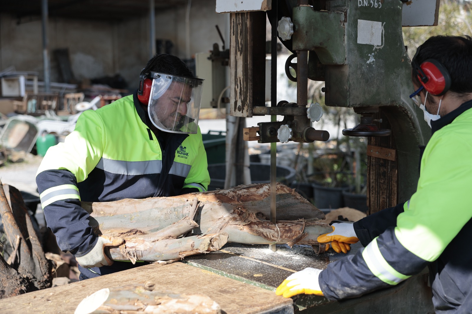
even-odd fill
[(303, 271), (296, 272), (287, 277), (284, 282), (278, 286), (275, 294), (284, 297), (293, 297), (297, 294), (314, 294), (322, 296), (318, 277), (321, 269), (307, 267)]

